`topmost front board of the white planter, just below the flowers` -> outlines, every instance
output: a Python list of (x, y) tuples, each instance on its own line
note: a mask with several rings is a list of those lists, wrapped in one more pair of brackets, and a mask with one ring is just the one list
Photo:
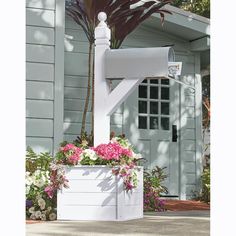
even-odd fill
[[(79, 170), (79, 171), (78, 171)], [(74, 167), (66, 169), (66, 176), (68, 179), (113, 179), (115, 176), (111, 172), (111, 168), (100, 168), (96, 167)]]

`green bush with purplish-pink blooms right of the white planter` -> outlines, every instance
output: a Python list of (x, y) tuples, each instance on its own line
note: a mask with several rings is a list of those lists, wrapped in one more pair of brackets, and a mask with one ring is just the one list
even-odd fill
[(156, 166), (151, 171), (144, 171), (144, 211), (165, 211), (165, 201), (160, 199), (161, 193), (168, 193), (162, 185), (167, 178), (165, 169)]

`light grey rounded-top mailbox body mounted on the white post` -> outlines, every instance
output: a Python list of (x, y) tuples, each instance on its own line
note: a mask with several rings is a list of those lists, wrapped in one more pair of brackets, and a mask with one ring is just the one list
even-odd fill
[(168, 77), (170, 47), (113, 49), (105, 52), (106, 78)]

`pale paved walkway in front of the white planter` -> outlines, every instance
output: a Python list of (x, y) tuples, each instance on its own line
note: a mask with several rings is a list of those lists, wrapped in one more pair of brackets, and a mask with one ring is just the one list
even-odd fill
[(205, 236), (210, 235), (210, 212), (145, 213), (124, 222), (52, 221), (26, 225), (26, 236)]

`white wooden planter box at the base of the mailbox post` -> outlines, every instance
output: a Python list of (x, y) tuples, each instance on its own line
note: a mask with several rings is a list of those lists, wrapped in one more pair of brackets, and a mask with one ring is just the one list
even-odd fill
[(57, 193), (58, 220), (122, 221), (143, 217), (143, 168), (138, 187), (128, 193), (107, 166), (66, 168), (70, 188)]

